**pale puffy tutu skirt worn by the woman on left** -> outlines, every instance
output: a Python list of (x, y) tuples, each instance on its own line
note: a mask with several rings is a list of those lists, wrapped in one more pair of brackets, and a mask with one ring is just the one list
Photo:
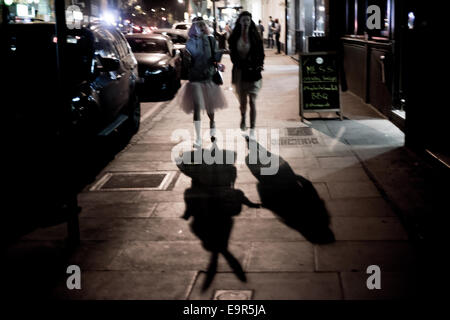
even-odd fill
[(178, 92), (177, 104), (186, 113), (194, 112), (195, 106), (208, 113), (228, 106), (222, 89), (211, 80), (186, 83)]

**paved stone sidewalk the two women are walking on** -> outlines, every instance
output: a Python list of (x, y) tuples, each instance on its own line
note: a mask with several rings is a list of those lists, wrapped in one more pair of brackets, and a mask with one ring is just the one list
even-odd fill
[[(411, 191), (420, 187), (421, 181), (411, 181), (414, 178), (406, 169), (418, 160), (402, 148), (403, 133), (348, 93), (343, 93), (341, 100), (346, 120), (301, 123), (297, 64), (288, 56), (272, 51), (266, 54), (257, 126), (279, 129), (279, 155), (303, 177), (303, 186), (311, 182), (311, 194), (315, 190), (324, 201), (335, 242), (306, 240), (306, 233), (288, 226), (286, 216), (280, 219), (279, 213), (286, 210), (243, 205), (232, 218), (229, 252), (247, 281), (241, 281), (220, 255), (217, 274), (202, 291), (210, 253), (190, 230), (192, 218), (180, 218), (191, 179), (171, 161), (176, 145), (171, 135), (187, 129), (193, 136), (192, 116), (171, 102), (143, 123), (131, 145), (79, 195), (82, 243), (74, 254), (63, 251), (65, 225), (37, 230), (10, 249), (10, 261), (25, 259), (44, 272), (39, 280), (42, 287), (20, 291), (21, 283), (29, 280), (23, 279), (16, 282), (17, 292), (62, 299), (212, 299), (217, 290), (235, 290), (225, 293), (234, 297), (243, 297), (247, 294), (244, 290), (250, 290), (252, 299), (268, 300), (414, 297), (417, 261), (398, 213), (408, 225), (405, 217), (410, 215), (402, 214), (421, 212), (424, 204), (420, 189)], [(224, 62), (223, 89), (229, 108), (216, 114), (217, 128), (223, 132), (238, 128), (240, 121), (238, 101), (228, 90), (228, 56)], [(206, 114), (202, 117), (206, 131)], [(204, 144), (209, 145), (207, 140)], [(234, 188), (242, 190), (251, 202), (264, 204), (267, 195), (258, 191), (258, 179), (249, 166), (238, 163), (236, 169)], [(142, 173), (151, 172), (167, 173), (171, 180), (163, 183), (165, 190), (145, 189), (151, 179), (145, 180)], [(91, 191), (105, 174), (116, 174), (116, 178), (108, 180), (108, 187)], [(405, 181), (412, 185), (399, 187), (408, 183)], [(135, 190), (111, 191), (127, 183), (134, 184)], [(288, 200), (290, 216), (314, 215), (308, 212), (307, 198)], [(82, 290), (67, 290), (65, 268), (69, 264), (80, 266)], [(370, 265), (381, 269), (381, 290), (367, 289)]]

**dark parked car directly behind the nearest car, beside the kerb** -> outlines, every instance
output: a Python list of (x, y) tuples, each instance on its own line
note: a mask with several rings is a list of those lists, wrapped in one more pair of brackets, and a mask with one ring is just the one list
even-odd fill
[(126, 38), (138, 61), (142, 98), (174, 95), (180, 87), (181, 57), (169, 37), (130, 34)]

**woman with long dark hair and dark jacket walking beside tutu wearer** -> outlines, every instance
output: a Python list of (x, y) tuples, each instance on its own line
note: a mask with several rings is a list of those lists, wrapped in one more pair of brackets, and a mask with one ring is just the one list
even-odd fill
[(264, 66), (264, 44), (252, 15), (243, 11), (228, 41), (233, 62), (232, 83), (238, 96), (241, 110), (242, 131), (246, 131), (247, 97), (250, 104), (250, 139), (255, 137), (256, 97), (262, 86), (261, 71)]

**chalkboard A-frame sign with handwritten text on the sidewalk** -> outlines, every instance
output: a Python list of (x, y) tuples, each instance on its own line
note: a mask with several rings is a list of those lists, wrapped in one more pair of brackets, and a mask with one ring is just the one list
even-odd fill
[(335, 52), (300, 53), (300, 117), (305, 112), (337, 112), (339, 103), (338, 56)]

